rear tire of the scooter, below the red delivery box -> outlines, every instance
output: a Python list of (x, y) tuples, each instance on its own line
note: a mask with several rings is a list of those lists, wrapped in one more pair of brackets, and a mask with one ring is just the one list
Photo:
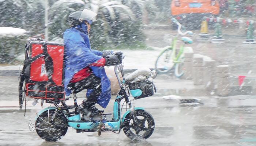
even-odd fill
[[(54, 111), (55, 110), (49, 110), (49, 121), (50, 119), (52, 119)], [(45, 141), (58, 141), (67, 133), (68, 122), (62, 112), (57, 111), (56, 118), (54, 118), (53, 122), (51, 123), (46, 123), (48, 121), (48, 111), (43, 112), (41, 115), (39, 115), (39, 117), (37, 118), (37, 120), (35, 120), (35, 127), (41, 129), (52, 128), (52, 130), (36, 129), (38, 136)], [(41, 118), (44, 119), (46, 122)]]

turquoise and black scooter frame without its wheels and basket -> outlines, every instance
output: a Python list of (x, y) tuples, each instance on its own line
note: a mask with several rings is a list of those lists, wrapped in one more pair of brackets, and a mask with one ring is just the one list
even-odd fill
[[(144, 108), (142, 107), (133, 107), (131, 101), (129, 100), (129, 88), (127, 87), (127, 85), (125, 85), (125, 78), (124, 78), (124, 73), (123, 73), (123, 65), (116, 65), (114, 68), (118, 83), (120, 85), (120, 92), (118, 93), (116, 100), (114, 101), (114, 106), (113, 106), (113, 119), (112, 120), (106, 120), (104, 123), (102, 123), (102, 119), (101, 120), (84, 120), (83, 118), (81, 118), (80, 113), (76, 112), (76, 108), (78, 107), (78, 104), (76, 102), (76, 95), (74, 94), (74, 105), (67, 105), (65, 104), (65, 101), (61, 101), (61, 105), (59, 106), (57, 104), (54, 104), (55, 107), (48, 107), (48, 108), (44, 108), (43, 110), (41, 110), (35, 120), (37, 120), (38, 118), (40, 118), (40, 115), (45, 112), (48, 111), (48, 117), (49, 117), (49, 111), (54, 110), (54, 111), (61, 111), (63, 112), (63, 114), (66, 116), (67, 118), (67, 122), (68, 122), (68, 126), (69, 127), (73, 127), (77, 130), (77, 132), (95, 132), (95, 131), (119, 131), (124, 127), (122, 125), (122, 123), (124, 122), (124, 120), (126, 119), (125, 117), (129, 114), (132, 113), (132, 119), (134, 121), (134, 124), (136, 124), (137, 118), (136, 118), (136, 110), (143, 110)], [(120, 80), (120, 76), (119, 73), (121, 73), (122, 77), (123, 77), (123, 81)], [(136, 91), (132, 91), (130, 90), (131, 94), (133, 97), (136, 96), (140, 96), (142, 94), (142, 92), (138, 92), (138, 89), (136, 89)], [(125, 102), (127, 103), (127, 105), (129, 105), (129, 110), (127, 110), (124, 115), (121, 117), (121, 111), (122, 111), (122, 107), (120, 106), (120, 102), (122, 99), (125, 99)], [(69, 112), (69, 109), (74, 109), (75, 111)], [(107, 115), (107, 114), (102, 114), (102, 116)], [(48, 119), (49, 120), (49, 119)], [(129, 120), (129, 119), (127, 119)], [(104, 128), (101, 128), (100, 124), (102, 124), (102, 126), (104, 126)], [(37, 128), (34, 124), (31, 123), (31, 119), (29, 121), (29, 129), (30, 131), (34, 131), (35, 129), (39, 129)], [(41, 129), (39, 129), (41, 130)]]

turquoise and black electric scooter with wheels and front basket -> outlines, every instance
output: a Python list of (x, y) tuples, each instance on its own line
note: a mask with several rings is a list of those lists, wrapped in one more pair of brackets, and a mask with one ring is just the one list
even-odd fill
[[(54, 107), (48, 107), (41, 110), (35, 117), (35, 124), (29, 120), (30, 131), (36, 131), (39, 137), (45, 141), (58, 141), (66, 134), (68, 127), (76, 129), (77, 132), (101, 132), (112, 131), (119, 133), (123, 129), (125, 135), (134, 139), (147, 139), (154, 131), (155, 122), (150, 113), (143, 107), (133, 107), (129, 98), (130, 93), (135, 99), (152, 96), (155, 86), (153, 82), (137, 82), (136, 84), (128, 84), (125, 82), (123, 64), (116, 65), (114, 71), (120, 85), (114, 105), (113, 114), (103, 114), (97, 117), (87, 117), (76, 111), (78, 104), (76, 103), (76, 95), (74, 94), (74, 105), (65, 104), (65, 100), (60, 105), (54, 104)], [(120, 78), (121, 77), (123, 79)], [(121, 100), (129, 105), (123, 116)]]

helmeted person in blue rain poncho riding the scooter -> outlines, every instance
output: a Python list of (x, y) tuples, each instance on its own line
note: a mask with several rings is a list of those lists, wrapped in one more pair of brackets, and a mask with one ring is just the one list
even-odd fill
[(98, 51), (91, 49), (89, 32), (97, 14), (88, 9), (69, 15), (68, 28), (64, 32), (65, 46), (65, 93), (78, 93), (87, 89), (83, 103), (76, 111), (94, 116), (103, 112), (94, 107), (96, 103), (106, 108), (111, 97), (110, 80), (104, 66), (122, 63), (121, 51)]

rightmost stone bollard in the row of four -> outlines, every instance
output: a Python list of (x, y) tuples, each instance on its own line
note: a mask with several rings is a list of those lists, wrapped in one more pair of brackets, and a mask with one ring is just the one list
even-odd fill
[(230, 92), (229, 85), (229, 65), (219, 65), (217, 66), (217, 95), (218, 96), (228, 96)]

